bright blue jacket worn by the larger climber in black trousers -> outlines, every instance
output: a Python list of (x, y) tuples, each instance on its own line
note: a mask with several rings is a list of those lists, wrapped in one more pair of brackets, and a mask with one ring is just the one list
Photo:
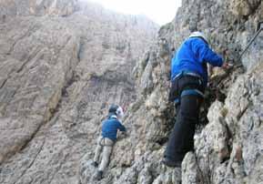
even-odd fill
[(182, 71), (197, 73), (207, 86), (207, 63), (222, 66), (223, 58), (213, 52), (200, 37), (188, 38), (177, 50), (171, 62), (171, 78)]

